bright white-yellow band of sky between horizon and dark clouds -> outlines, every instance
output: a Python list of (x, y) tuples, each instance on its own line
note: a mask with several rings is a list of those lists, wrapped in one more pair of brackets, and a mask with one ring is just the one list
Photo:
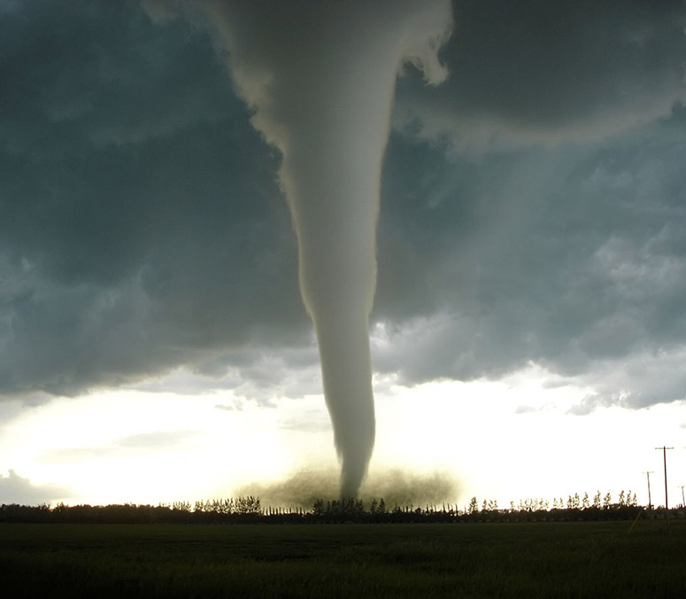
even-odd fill
[[(509, 507), (597, 491), (610, 491), (616, 500), (622, 490), (645, 504), (644, 472), (652, 471), (652, 502), (659, 505), (663, 463), (654, 447), (666, 444), (674, 447), (667, 455), (670, 503), (682, 502), (683, 401), (578, 416), (569, 410), (585, 391), (545, 388), (545, 374), (531, 368), (497, 383), (412, 389), (380, 382), (365, 491), (383, 494), (388, 485), (378, 478), (400, 471), (425, 485), (438, 475), (450, 489), (443, 499), (460, 506), (472, 496)], [(254, 483), (278, 484), (300, 472), (312, 472), (325, 491), (333, 490), (327, 477), (335, 451), (321, 395), (274, 398), (265, 407), (226, 391), (128, 389), (15, 413), (0, 428), (0, 456), (15, 471), (0, 479), (2, 502), (193, 502), (232, 496)], [(275, 501), (290, 496), (298, 494), (276, 494)], [(421, 501), (425, 494), (417, 496)]]

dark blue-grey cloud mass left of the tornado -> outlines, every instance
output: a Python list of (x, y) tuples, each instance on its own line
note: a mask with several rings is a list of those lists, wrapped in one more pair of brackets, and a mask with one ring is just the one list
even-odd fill
[(306, 335), (274, 157), (207, 36), (131, 3), (27, 3), (4, 25), (2, 390)]

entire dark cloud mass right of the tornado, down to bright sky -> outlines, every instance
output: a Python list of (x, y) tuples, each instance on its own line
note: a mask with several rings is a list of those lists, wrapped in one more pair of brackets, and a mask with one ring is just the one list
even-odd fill
[(680, 397), (684, 5), (455, 14), (446, 87), (399, 82), (376, 368), (416, 383), (533, 361), (597, 390), (580, 411)]

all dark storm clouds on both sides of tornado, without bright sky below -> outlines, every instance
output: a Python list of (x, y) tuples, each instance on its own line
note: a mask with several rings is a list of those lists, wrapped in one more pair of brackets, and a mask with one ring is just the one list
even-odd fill
[[(204, 30), (135, 3), (7, 6), (0, 390), (311, 373), (279, 157)], [(533, 361), (596, 389), (580, 412), (682, 397), (683, 4), (454, 12), (448, 82), (398, 83), (374, 367), (413, 384)]]

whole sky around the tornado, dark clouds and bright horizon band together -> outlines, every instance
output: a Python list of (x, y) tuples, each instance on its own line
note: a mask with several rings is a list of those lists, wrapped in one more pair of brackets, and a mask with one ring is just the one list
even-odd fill
[[(0, 0), (0, 503), (337, 468), (278, 152), (166, 5)], [(646, 503), (653, 471), (659, 504), (667, 445), (681, 502), (686, 8), (452, 8), (448, 80), (397, 80), (366, 488)]]

